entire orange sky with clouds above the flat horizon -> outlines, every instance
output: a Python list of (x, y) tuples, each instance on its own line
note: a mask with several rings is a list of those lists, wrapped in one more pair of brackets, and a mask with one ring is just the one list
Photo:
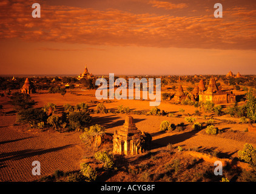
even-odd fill
[(0, 75), (251, 75), (255, 61), (254, 0), (0, 1)]

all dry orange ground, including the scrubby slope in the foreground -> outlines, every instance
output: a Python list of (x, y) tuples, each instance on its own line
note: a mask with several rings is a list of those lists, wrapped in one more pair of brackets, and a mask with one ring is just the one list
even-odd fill
[[(66, 103), (76, 105), (79, 102), (86, 102), (90, 109), (94, 109), (97, 102), (101, 102), (96, 100), (95, 90), (73, 90), (73, 93), (66, 93), (64, 96), (52, 93), (37, 93), (31, 96), (32, 99), (38, 101), (36, 107), (42, 107), (47, 102), (52, 102), (56, 104), (57, 112), (61, 111), (62, 105)], [(76, 171), (79, 170), (79, 163), (93, 154), (93, 150), (84, 146), (79, 139), (80, 132), (59, 133), (54, 130), (44, 132), (37, 129), (27, 130), (26, 127), (15, 124), (16, 115), (13, 113), (12, 106), (8, 104), (8, 98), (0, 98), (0, 104), (4, 106), (3, 112), (5, 113), (0, 117), (0, 181), (35, 181), (39, 176), (32, 175), (33, 161), (41, 162), (41, 176), (50, 175), (57, 169), (64, 172)], [(149, 106), (149, 101), (141, 100), (104, 101), (104, 105), (107, 109), (112, 110), (115, 110), (118, 105), (129, 107), (133, 111), (149, 112), (152, 109)], [(196, 110), (194, 106), (161, 102), (158, 108), (180, 116), (132, 114), (136, 127), (152, 135), (152, 150), (140, 156), (121, 157), (126, 165), (120, 167), (121, 170), (114, 172), (111, 176), (101, 176), (100, 181), (148, 181), (149, 175), (145, 174), (146, 171), (144, 174), (140, 174), (140, 178), (134, 173), (128, 173), (136, 170), (132, 169), (132, 166), (142, 164), (150, 169), (147, 171), (150, 174), (150, 181), (159, 178), (162, 178), (162, 181), (180, 181), (177, 171), (175, 171), (177, 173), (176, 179), (170, 180), (164, 175), (164, 169), (167, 168), (166, 164), (175, 158), (180, 159), (181, 169), (190, 167), (189, 172), (191, 174), (196, 174), (195, 169), (200, 168), (212, 169), (213, 172), (214, 164), (200, 161), (200, 159), (185, 155), (183, 152), (176, 152), (174, 150), (177, 150), (177, 146), (183, 147), (184, 150), (211, 150), (211, 152), (218, 152), (219, 156), (223, 158), (237, 157), (238, 150), (243, 149), (245, 143), (251, 143), (256, 147), (256, 134), (244, 132), (248, 125), (239, 123), (239, 119), (231, 118), (228, 115), (214, 116), (215, 126), (223, 130), (223, 133), (207, 135), (204, 130), (192, 130), (192, 125), (184, 121), (186, 116), (179, 113), (180, 109), (184, 109), (184, 114), (193, 114)], [(210, 113), (205, 113), (205, 115), (207, 119), (211, 116)], [(124, 124), (126, 115), (121, 113), (93, 113), (91, 116), (92, 124), (104, 125), (107, 129), (106, 132), (113, 133)], [(207, 121), (203, 116), (194, 117), (202, 123)], [(160, 132), (160, 124), (164, 120), (175, 125), (184, 122), (186, 129), (182, 132)], [(168, 144), (172, 144), (172, 149), (167, 149)], [(108, 149), (111, 150), (111, 146), (109, 144)], [(170, 150), (173, 152), (172, 155), (170, 155)], [(183, 177), (183, 181), (193, 180), (197, 180), (195, 176)]]

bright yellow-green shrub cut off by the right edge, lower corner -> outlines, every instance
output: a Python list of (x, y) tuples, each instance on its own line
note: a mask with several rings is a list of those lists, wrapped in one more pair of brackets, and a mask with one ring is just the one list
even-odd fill
[(243, 150), (238, 151), (238, 158), (256, 168), (256, 150), (252, 144), (244, 144)]

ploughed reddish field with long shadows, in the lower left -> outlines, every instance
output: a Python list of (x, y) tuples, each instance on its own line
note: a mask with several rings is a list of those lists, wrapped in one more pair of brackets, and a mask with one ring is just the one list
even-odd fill
[[(3, 125), (5, 117), (0, 119), (0, 181), (34, 181), (57, 169), (79, 169), (78, 133), (19, 132)], [(33, 161), (40, 162), (41, 176), (32, 175)]]

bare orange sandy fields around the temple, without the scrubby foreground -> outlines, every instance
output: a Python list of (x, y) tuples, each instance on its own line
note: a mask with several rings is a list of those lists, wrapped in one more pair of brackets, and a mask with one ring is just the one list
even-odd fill
[[(76, 105), (79, 102), (86, 102), (90, 109), (95, 108), (96, 101), (95, 90), (73, 91), (76, 94), (38, 93), (33, 94), (32, 98), (38, 101), (36, 107), (42, 107), (47, 102), (57, 105), (57, 111), (62, 109), (62, 105), (69, 103)], [(49, 175), (54, 170), (59, 169), (64, 172), (70, 172), (79, 169), (79, 161), (83, 159), (84, 149), (86, 149), (79, 139), (78, 132), (59, 133), (53, 131), (41, 132), (39, 130), (27, 131), (21, 125), (13, 125), (16, 121), (16, 115), (12, 107), (8, 105), (8, 99), (0, 98), (0, 103), (4, 106), (3, 112), (6, 116), (0, 117), (0, 181), (33, 181), (38, 176), (32, 175), (32, 162), (41, 162), (41, 175)], [(116, 109), (118, 105), (129, 107), (131, 110), (149, 111), (149, 101), (140, 100), (114, 100), (104, 103), (107, 109)], [(158, 107), (166, 112), (178, 114), (178, 110), (184, 109), (185, 113), (194, 113), (196, 108), (189, 105), (175, 105), (167, 102), (161, 102)], [(92, 124), (104, 125), (107, 132), (113, 133), (120, 129), (124, 124), (125, 114), (96, 114), (92, 115)], [(136, 127), (139, 130), (148, 132), (152, 135), (152, 142), (155, 147), (183, 146), (186, 149), (198, 147), (200, 149), (211, 149), (223, 153), (227, 157), (237, 157), (237, 151), (243, 149), (243, 145), (248, 142), (256, 145), (256, 135), (254, 133), (244, 132), (247, 124), (228, 124), (221, 119), (229, 119), (238, 122), (238, 119), (229, 116), (220, 116), (215, 125), (218, 129), (235, 130), (235, 135), (206, 135), (204, 130), (191, 130), (191, 124), (184, 121), (183, 115), (180, 117), (152, 116), (152, 115), (132, 115), (135, 119)], [(181, 122), (186, 124), (184, 132), (160, 132), (160, 124), (167, 120), (177, 125)], [(197, 117), (197, 121), (204, 122), (203, 116)], [(227, 133), (226, 133), (227, 134)], [(238, 135), (237, 135), (238, 134)], [(256, 146), (255, 146), (256, 147)]]

